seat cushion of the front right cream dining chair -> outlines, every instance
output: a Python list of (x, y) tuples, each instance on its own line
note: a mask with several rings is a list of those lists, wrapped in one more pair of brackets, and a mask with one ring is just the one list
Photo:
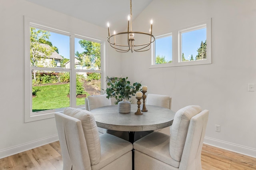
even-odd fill
[(178, 168), (180, 161), (170, 156), (170, 136), (161, 132), (152, 132), (133, 143), (133, 148), (166, 164)]

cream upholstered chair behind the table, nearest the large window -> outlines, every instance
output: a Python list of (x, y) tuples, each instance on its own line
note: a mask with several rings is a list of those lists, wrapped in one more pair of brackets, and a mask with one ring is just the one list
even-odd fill
[[(104, 107), (104, 106), (112, 105), (111, 99), (108, 99), (106, 97), (107, 97), (106, 94), (104, 94), (104, 95), (88, 96), (85, 99), (85, 109), (88, 110), (88, 111), (91, 111), (92, 109), (96, 109), (98, 107)], [(125, 140), (129, 139), (128, 132), (116, 131), (116, 130), (108, 130), (108, 129), (100, 128), (100, 127), (98, 127), (98, 132), (100, 134), (103, 134), (103, 133), (113, 134), (114, 136), (123, 138)]]

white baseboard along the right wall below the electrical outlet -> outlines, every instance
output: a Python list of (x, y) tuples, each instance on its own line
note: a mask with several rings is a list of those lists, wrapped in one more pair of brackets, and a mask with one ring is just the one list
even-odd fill
[(208, 138), (208, 137), (204, 137), (204, 143), (212, 145), (212, 146), (216, 146), (218, 148), (230, 150), (232, 152), (236, 152), (236, 153), (240, 153), (240, 154), (244, 154), (244, 155), (256, 158), (256, 149), (255, 148), (249, 148), (246, 146), (233, 144), (230, 142), (225, 142), (222, 140), (217, 140), (217, 139)]

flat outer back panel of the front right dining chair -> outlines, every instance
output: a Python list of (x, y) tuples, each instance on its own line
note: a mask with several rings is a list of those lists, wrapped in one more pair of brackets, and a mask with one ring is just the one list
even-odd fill
[(202, 170), (201, 152), (208, 115), (209, 111), (204, 110), (191, 118), (180, 161), (180, 169)]

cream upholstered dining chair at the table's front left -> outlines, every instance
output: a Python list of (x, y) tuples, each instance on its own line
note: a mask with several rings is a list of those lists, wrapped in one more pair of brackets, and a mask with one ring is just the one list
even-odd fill
[(63, 170), (131, 170), (132, 144), (111, 134), (98, 134), (89, 111), (66, 108), (55, 113)]

